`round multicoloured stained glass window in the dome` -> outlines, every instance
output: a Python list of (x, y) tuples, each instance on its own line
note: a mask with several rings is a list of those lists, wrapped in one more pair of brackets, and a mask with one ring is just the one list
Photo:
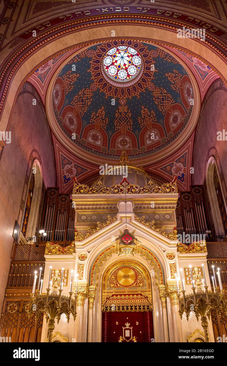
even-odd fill
[(128, 46), (113, 47), (103, 58), (105, 73), (119, 82), (135, 78), (141, 70), (141, 63), (139, 52)]

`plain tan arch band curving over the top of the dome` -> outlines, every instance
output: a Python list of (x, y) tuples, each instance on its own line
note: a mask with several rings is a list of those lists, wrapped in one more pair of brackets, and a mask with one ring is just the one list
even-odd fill
[[(112, 23), (111, 23), (112, 22)], [(134, 24), (136, 22), (136, 24)], [(111, 25), (108, 25), (111, 23)], [(198, 40), (192, 40), (190, 38), (177, 38), (176, 37), (176, 29), (177, 27), (170, 27), (163, 25), (161, 23), (155, 23), (155, 25), (151, 26), (147, 21), (142, 20), (130, 20), (130, 24), (127, 23), (127, 20), (121, 20), (120, 24), (119, 21), (111, 21), (111, 20), (105, 20), (104, 23), (100, 24), (100, 22), (97, 24), (99, 27), (96, 29), (96, 34), (99, 36), (99, 38), (108, 38), (108, 34), (111, 34), (111, 30), (113, 28), (113, 23), (115, 24), (115, 33), (116, 37), (138, 37), (138, 34), (141, 35), (141, 40), (151, 40), (150, 36), (152, 34), (153, 42), (158, 42), (158, 44), (168, 44), (168, 45), (174, 45), (176, 48), (184, 49), (186, 51), (191, 51), (196, 57), (198, 57), (201, 61), (205, 63), (209, 63), (207, 60), (213, 60), (212, 67), (214, 70), (218, 73), (220, 78), (223, 79), (223, 81), (227, 84), (227, 65), (226, 65), (226, 56), (219, 51), (215, 46), (213, 46), (210, 42), (204, 41), (200, 42)], [(138, 25), (139, 23), (139, 25)], [(133, 24), (133, 26), (131, 26)], [(68, 50), (75, 47), (75, 44), (73, 44), (74, 37), (72, 37), (72, 34), (67, 34), (68, 32), (76, 32), (77, 33), (77, 39), (79, 42), (88, 42), (95, 39), (95, 31), (93, 26), (95, 23), (92, 24), (86, 24), (86, 27), (84, 25), (80, 25), (77, 27), (73, 27), (72, 29), (59, 31), (58, 33), (50, 36), (49, 38), (46, 38), (45, 40), (42, 40), (39, 44), (35, 45), (33, 48), (29, 49), (26, 53), (24, 53), (23, 56), (20, 57), (20, 59), (17, 61), (16, 65), (13, 67), (11, 73), (8, 76), (7, 81), (5, 82), (5, 89), (3, 91), (3, 96), (0, 102), (0, 111), (2, 112), (2, 120), (4, 122), (3, 128), (4, 130), (7, 130), (7, 123), (9, 120), (9, 117), (11, 115), (11, 112), (14, 109), (15, 105), (15, 98), (19, 92), (19, 89), (21, 85), (23, 85), (24, 81), (26, 81), (26, 78), (28, 78), (32, 72), (35, 71), (36, 65), (43, 64), (50, 58), (50, 56), (53, 55), (53, 49), (50, 47), (51, 44), (48, 42), (51, 42), (55, 40), (54, 42), (54, 48), (55, 50), (59, 50), (59, 52), (63, 52), (62, 50)], [(103, 26), (105, 25), (105, 26)], [(89, 28), (91, 27), (91, 28)], [(171, 30), (170, 30), (171, 28)], [(152, 30), (152, 33), (151, 33)], [(55, 30), (56, 31), (56, 30)], [(48, 36), (48, 34), (47, 34)], [(213, 42), (216, 42), (213, 40)], [(30, 45), (32, 42), (30, 42)], [(23, 51), (25, 51), (26, 47), (23, 48)], [(215, 52), (213, 52), (215, 50)], [(33, 52), (35, 51), (35, 52)], [(16, 57), (20, 55), (20, 52), (16, 54)], [(43, 61), (45, 60), (45, 61)], [(14, 58), (11, 59), (11, 61), (8, 63), (9, 67), (14, 61)], [(22, 63), (23, 61), (23, 63)], [(34, 69), (35, 65), (35, 69)], [(20, 67), (19, 67), (20, 66)], [(5, 68), (2, 77), (5, 75), (7, 71), (7, 67)], [(20, 70), (20, 72), (18, 72)], [(30, 70), (30, 72), (28, 72)], [(9, 84), (11, 84), (11, 90), (14, 91), (12, 93), (7, 93)], [(4, 109), (3, 109), (3, 104)]]

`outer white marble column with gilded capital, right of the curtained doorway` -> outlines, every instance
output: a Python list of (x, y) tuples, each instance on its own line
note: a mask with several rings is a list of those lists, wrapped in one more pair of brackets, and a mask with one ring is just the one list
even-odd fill
[(177, 284), (173, 281), (167, 281), (166, 291), (171, 298), (172, 303), (172, 314), (173, 314), (173, 331), (175, 342), (182, 342), (182, 332), (181, 332), (181, 318), (178, 313), (178, 298), (177, 298)]

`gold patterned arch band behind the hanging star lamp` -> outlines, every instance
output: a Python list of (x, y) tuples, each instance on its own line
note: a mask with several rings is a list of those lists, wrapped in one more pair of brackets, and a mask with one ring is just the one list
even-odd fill
[[(93, 261), (91, 266), (90, 275), (89, 275), (89, 283), (91, 286), (96, 286), (99, 280), (99, 274), (101, 267), (103, 266), (103, 262), (107, 261), (109, 257), (112, 257), (113, 254), (118, 254), (117, 248), (112, 245), (105, 248)], [(161, 264), (159, 263), (158, 259), (155, 255), (146, 247), (139, 245), (138, 248), (135, 250), (135, 254), (140, 255), (141, 257), (145, 257), (145, 260), (151, 265), (154, 266), (154, 277), (155, 277), (155, 284), (156, 285), (163, 285), (164, 284), (164, 276), (163, 276), (163, 269)], [(136, 258), (136, 257), (135, 257)], [(131, 259), (131, 257), (130, 257)]]

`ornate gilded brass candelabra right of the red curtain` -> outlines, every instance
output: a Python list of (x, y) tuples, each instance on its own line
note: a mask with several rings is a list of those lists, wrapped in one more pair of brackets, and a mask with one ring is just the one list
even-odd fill
[[(227, 315), (227, 306), (226, 306), (226, 299), (224, 296), (225, 290), (222, 289), (222, 286), (214, 287), (213, 291), (208, 291), (208, 286), (205, 283), (204, 291), (201, 289), (201, 275), (198, 272), (198, 269), (195, 267), (195, 275), (192, 277), (192, 270), (191, 270), (191, 278), (192, 280), (192, 294), (185, 295), (185, 289), (183, 286), (182, 295), (183, 297), (180, 298), (180, 294), (177, 295), (178, 297), (178, 304), (179, 304), (179, 314), (182, 320), (182, 315), (186, 314), (186, 319), (189, 319), (189, 315), (191, 311), (193, 311), (196, 315), (197, 321), (199, 321), (199, 316), (201, 316), (201, 325), (204, 329), (205, 335), (205, 342), (209, 342), (208, 339), (208, 320), (210, 320), (211, 310), (215, 310), (217, 315), (220, 316), (220, 311), (223, 310), (224, 313)], [(205, 279), (205, 277), (204, 277)], [(197, 286), (197, 291), (195, 287), (195, 283)]]

